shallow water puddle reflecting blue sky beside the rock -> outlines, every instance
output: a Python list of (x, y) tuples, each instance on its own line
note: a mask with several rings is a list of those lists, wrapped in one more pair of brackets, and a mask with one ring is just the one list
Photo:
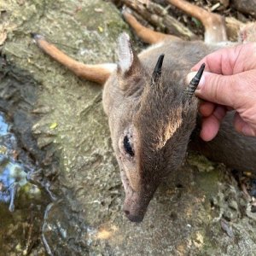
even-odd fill
[(33, 166), (18, 160), (17, 144), (11, 125), (0, 112), (0, 247), (2, 253), (27, 255), (40, 237), (46, 199), (38, 186), (27, 182), (26, 172)]

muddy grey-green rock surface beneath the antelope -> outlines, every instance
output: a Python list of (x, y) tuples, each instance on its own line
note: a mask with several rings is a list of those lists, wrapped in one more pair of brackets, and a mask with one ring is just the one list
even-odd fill
[[(27, 254), (256, 255), (256, 213), (235, 178), (195, 154), (161, 185), (142, 224), (125, 218), (102, 88), (74, 77), (30, 38), (31, 32), (43, 34), (79, 61), (111, 62), (119, 32), (129, 32), (119, 10), (100, 0), (1, 5), (7, 38), (0, 109), (13, 124), (19, 159), (36, 166), (29, 181), (50, 201), (47, 207), (38, 203), (41, 217), (33, 224), (42, 230), (32, 236), (36, 241)], [(32, 200), (26, 202), (22, 207), (30, 209)], [(6, 231), (26, 226), (26, 220), (14, 218), (18, 206), (19, 198), (11, 214), (1, 205), (8, 224), (0, 229), (0, 243), (10, 255), (23, 252), (23, 235)]]

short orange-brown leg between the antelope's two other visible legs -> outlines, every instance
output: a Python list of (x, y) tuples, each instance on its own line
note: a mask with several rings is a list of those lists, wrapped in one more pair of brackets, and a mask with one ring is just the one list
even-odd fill
[(137, 21), (137, 19), (129, 13), (126, 9), (123, 11), (123, 15), (125, 21), (133, 28), (134, 32), (137, 34), (139, 38), (143, 40), (143, 42), (148, 44), (156, 44), (162, 42), (166, 39), (168, 40), (181, 40), (172, 35), (166, 35), (161, 32), (155, 32), (149, 29), (146, 26), (143, 26), (141, 23)]

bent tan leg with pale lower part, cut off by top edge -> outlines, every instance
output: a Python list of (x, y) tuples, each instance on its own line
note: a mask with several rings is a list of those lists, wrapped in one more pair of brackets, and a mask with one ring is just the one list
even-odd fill
[(184, 0), (168, 0), (168, 2), (201, 21), (203, 26), (205, 26), (206, 43), (227, 41), (225, 20), (221, 15), (212, 14), (207, 10)]

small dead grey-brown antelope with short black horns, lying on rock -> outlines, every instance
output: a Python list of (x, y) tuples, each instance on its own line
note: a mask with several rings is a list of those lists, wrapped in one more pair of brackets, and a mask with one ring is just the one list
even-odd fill
[[(212, 142), (201, 141), (199, 101), (194, 91), (204, 67), (189, 85), (186, 83), (195, 63), (231, 44), (226, 42), (224, 19), (183, 0), (169, 2), (201, 20), (206, 28), (205, 42), (186, 42), (151, 31), (124, 11), (125, 20), (137, 35), (154, 45), (137, 55), (129, 36), (122, 33), (118, 38), (117, 65), (85, 65), (42, 36), (32, 35), (46, 54), (79, 77), (104, 84), (103, 108), (125, 188), (124, 212), (134, 222), (143, 220), (154, 191), (170, 172), (177, 171), (188, 145), (237, 170), (253, 171), (256, 166), (256, 138), (236, 133), (232, 125), (234, 113), (227, 115)], [(245, 31), (242, 40), (249, 41)]]

